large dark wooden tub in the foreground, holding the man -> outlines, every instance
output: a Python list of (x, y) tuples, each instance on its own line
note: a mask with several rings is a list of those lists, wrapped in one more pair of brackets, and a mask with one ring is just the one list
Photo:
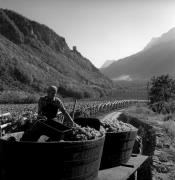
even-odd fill
[(88, 141), (13, 142), (0, 139), (1, 180), (94, 180), (105, 135)]

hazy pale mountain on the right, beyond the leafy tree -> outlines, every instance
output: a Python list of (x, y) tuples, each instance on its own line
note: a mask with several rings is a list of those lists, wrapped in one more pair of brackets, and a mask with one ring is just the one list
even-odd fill
[(153, 38), (140, 52), (100, 69), (113, 80), (148, 80), (152, 76), (175, 76), (175, 28)]

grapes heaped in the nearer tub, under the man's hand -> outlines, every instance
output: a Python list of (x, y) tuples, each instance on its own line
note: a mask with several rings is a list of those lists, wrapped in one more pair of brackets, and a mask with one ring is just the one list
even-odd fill
[(86, 141), (97, 139), (103, 135), (103, 131), (97, 131), (94, 128), (90, 127), (81, 127), (76, 125), (72, 128), (67, 135), (64, 137), (64, 141)]

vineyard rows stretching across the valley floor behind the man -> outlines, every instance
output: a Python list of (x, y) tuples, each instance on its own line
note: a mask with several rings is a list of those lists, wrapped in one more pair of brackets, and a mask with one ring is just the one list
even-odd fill
[[(76, 117), (97, 117), (101, 114), (111, 111), (127, 108), (137, 103), (146, 103), (147, 100), (114, 100), (114, 101), (80, 101), (76, 103), (74, 118)], [(72, 115), (74, 102), (65, 103), (65, 107)], [(16, 123), (23, 121), (34, 121), (37, 119), (37, 104), (33, 105), (8, 105), (7, 111), (0, 115), (0, 125), (6, 127), (6, 123)], [(4, 114), (4, 116), (3, 116)], [(58, 118), (63, 119), (61, 113), (58, 113)]]

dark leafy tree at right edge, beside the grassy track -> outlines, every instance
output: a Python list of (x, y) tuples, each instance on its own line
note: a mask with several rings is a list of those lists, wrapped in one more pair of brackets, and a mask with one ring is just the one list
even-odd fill
[[(148, 83), (149, 104), (153, 111), (169, 113), (174, 110), (175, 80), (169, 75), (153, 77)], [(173, 107), (171, 107), (173, 105)]]

